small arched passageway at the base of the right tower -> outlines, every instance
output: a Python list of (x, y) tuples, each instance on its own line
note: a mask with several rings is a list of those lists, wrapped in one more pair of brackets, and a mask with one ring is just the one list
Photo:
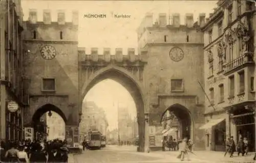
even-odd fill
[(169, 136), (177, 139), (184, 137), (194, 139), (194, 126), (190, 112), (180, 104), (168, 107), (162, 114), (161, 123), (163, 129), (172, 129), (173, 132), (170, 132)]

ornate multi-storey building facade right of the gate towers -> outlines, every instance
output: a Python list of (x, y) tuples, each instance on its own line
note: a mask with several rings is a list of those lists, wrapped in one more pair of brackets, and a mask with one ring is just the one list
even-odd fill
[(205, 63), (205, 147), (224, 151), (242, 137), (255, 150), (255, 4), (218, 1), (202, 26)]

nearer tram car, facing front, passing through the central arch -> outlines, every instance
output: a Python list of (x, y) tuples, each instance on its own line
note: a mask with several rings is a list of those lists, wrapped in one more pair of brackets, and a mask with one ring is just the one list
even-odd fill
[(87, 132), (86, 141), (88, 142), (89, 149), (101, 148), (101, 133), (98, 130), (90, 130)]

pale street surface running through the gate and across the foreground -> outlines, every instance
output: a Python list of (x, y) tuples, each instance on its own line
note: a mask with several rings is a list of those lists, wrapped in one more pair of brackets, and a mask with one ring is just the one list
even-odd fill
[(88, 150), (83, 154), (70, 157), (69, 162), (120, 162), (120, 163), (165, 163), (165, 162), (254, 162), (253, 154), (247, 156), (237, 156), (230, 158), (229, 155), (224, 157), (224, 152), (215, 151), (195, 151), (196, 155), (190, 154), (190, 161), (181, 161), (177, 158), (178, 151), (156, 151), (150, 153), (136, 152), (136, 147), (117, 147), (108, 146), (101, 150)]

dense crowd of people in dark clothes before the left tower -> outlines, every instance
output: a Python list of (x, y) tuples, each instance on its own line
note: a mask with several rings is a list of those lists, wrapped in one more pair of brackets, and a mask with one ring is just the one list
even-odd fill
[(68, 162), (67, 141), (1, 142), (0, 162)]

